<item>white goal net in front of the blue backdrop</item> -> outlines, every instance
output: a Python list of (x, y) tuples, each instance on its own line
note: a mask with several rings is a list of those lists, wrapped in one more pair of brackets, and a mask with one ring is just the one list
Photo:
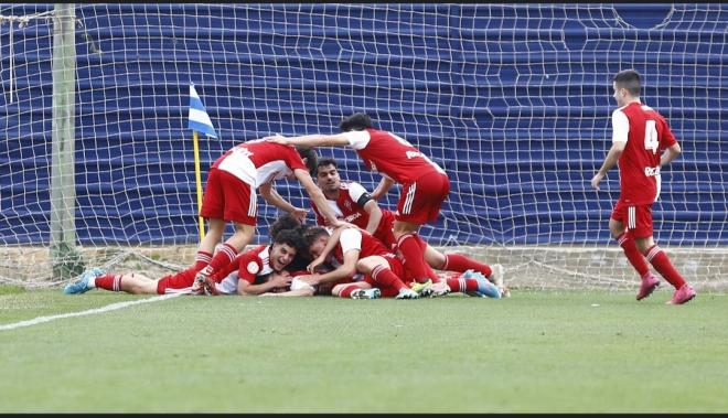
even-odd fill
[[(635, 68), (643, 103), (683, 154), (663, 171), (655, 239), (698, 288), (728, 285), (725, 232), (728, 6), (78, 4), (75, 243), (83, 268), (151, 276), (192, 262), (199, 239), (188, 127), (193, 83), (218, 139), (201, 139), (203, 183), (232, 146), (280, 132), (375, 124), (443, 167), (451, 194), (424, 238), (506, 267), (512, 286), (634, 288), (610, 238), (611, 77)], [(0, 281), (54, 286), (53, 6), (0, 6)], [(204, 137), (203, 137), (204, 138)], [(322, 148), (342, 178), (378, 176)], [(278, 192), (308, 207), (301, 187)], [(395, 210), (398, 190), (381, 204)], [(278, 215), (259, 202), (258, 242)], [(309, 217), (312, 222), (313, 217)], [(77, 270), (76, 270), (77, 271)], [(78, 271), (77, 271), (78, 272)]]

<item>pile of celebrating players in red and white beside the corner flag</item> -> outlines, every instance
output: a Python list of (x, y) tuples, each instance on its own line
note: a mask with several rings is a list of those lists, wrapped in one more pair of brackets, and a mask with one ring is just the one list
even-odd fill
[[(450, 292), (495, 299), (510, 296), (501, 265), (440, 253), (419, 236), (422, 224), (437, 221), (450, 191), (439, 165), (405, 139), (375, 129), (365, 114), (345, 118), (341, 129), (342, 133), (332, 136), (247, 141), (218, 158), (208, 172), (201, 208), (208, 234), (189, 268), (159, 280), (94, 268), (64, 292), (100, 288), (129, 293), (352, 299), (418, 299)], [(312, 149), (343, 144), (382, 173), (372, 193), (356, 182), (342, 181), (336, 161), (319, 161)], [(282, 178), (296, 178), (307, 190), (317, 225), (307, 225), (308, 211), (275, 191), (274, 181)], [(394, 183), (402, 185), (402, 192), (393, 213), (381, 208), (377, 200)], [(258, 190), (287, 214), (270, 226), (269, 244), (244, 250), (255, 233)], [(235, 233), (220, 244), (228, 222)]]

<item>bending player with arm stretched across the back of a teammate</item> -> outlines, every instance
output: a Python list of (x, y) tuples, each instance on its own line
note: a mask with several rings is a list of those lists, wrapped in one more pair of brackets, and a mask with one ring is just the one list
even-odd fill
[[(450, 181), (438, 164), (411, 143), (392, 132), (375, 129), (366, 114), (354, 114), (342, 120), (339, 135), (308, 135), (266, 139), (302, 147), (350, 146), (364, 160), (366, 167), (383, 174), (372, 195), (376, 199), (396, 182), (403, 185), (394, 222), (394, 236), (405, 265), (417, 282), (431, 279), (431, 269), (425, 261), (426, 243), (417, 232), (420, 226), (437, 221), (442, 202), (450, 192)], [(318, 203), (317, 203), (318, 204)], [(321, 205), (318, 204), (321, 208)]]

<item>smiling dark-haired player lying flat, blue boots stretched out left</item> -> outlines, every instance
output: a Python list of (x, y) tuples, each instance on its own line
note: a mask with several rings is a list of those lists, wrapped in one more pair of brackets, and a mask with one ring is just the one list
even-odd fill
[[(271, 228), (274, 231), (274, 228)], [(279, 277), (264, 280), (272, 271), (281, 271), (293, 260), (303, 246), (301, 229), (276, 231), (270, 245), (260, 245), (239, 254), (233, 262), (207, 279), (207, 290), (212, 294), (260, 294), (279, 291), (290, 285), (291, 278)], [(200, 293), (195, 287), (195, 272), (183, 271), (167, 275), (159, 280), (140, 274), (107, 274), (94, 268), (82, 278), (64, 288), (64, 293), (85, 293), (94, 288), (124, 291), (132, 294)]]

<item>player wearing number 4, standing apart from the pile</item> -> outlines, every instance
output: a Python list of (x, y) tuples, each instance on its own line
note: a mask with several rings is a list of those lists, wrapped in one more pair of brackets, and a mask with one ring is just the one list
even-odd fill
[(642, 278), (636, 299), (646, 298), (660, 285), (645, 262), (646, 257), (675, 288), (667, 303), (682, 304), (695, 298), (695, 290), (654, 243), (652, 229), (652, 204), (660, 196), (660, 171), (682, 150), (665, 118), (640, 101), (636, 71), (619, 72), (612, 87), (619, 107), (612, 112), (612, 147), (591, 185), (599, 189), (607, 172), (619, 163), (620, 197), (609, 219), (609, 231)]

